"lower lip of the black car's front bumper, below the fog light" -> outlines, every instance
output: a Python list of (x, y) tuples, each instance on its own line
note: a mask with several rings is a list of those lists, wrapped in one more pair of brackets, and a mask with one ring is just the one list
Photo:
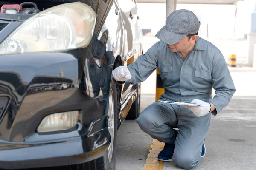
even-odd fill
[[(111, 141), (108, 127), (92, 132), (93, 125), (104, 122), (107, 116), (102, 116), (91, 123), (91, 130), (86, 135), (54, 139), (44, 142), (35, 142), (41, 136), (31, 136), (27, 142), (6, 142), (0, 140), (0, 168), (24, 169), (38, 167), (55, 167), (72, 164), (81, 164), (105, 155)], [(82, 130), (65, 133), (65, 135), (78, 134)], [(51, 135), (46, 135), (49, 138)], [(64, 134), (62, 134), (64, 136)], [(56, 138), (56, 136), (54, 136)], [(57, 136), (58, 137), (58, 136)], [(29, 141), (30, 140), (30, 141)], [(41, 139), (40, 139), (41, 140)], [(34, 142), (32, 142), (34, 141)]]

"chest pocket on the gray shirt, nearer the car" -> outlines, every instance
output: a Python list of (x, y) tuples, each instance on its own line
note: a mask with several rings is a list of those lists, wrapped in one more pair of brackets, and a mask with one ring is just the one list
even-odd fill
[(163, 80), (163, 86), (173, 85), (172, 81), (172, 64), (161, 64), (158, 66), (160, 77)]

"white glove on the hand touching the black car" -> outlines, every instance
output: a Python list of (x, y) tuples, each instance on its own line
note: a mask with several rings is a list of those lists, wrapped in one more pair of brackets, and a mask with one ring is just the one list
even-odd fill
[(131, 79), (131, 73), (125, 66), (119, 66), (113, 70), (113, 77), (116, 81), (124, 82)]

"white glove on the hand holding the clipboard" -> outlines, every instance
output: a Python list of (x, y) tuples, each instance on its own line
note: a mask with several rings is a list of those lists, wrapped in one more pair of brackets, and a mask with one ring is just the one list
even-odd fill
[(202, 101), (202, 100), (194, 99), (190, 103), (201, 104), (200, 107), (185, 106), (186, 108), (190, 109), (195, 114), (195, 116), (198, 116), (198, 117), (204, 116), (204, 115), (208, 114), (211, 110), (211, 105), (207, 102)]

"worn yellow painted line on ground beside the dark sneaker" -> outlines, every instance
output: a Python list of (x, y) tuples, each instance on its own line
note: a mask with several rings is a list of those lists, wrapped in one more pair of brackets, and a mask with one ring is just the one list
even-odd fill
[(143, 170), (162, 170), (163, 162), (158, 161), (158, 153), (163, 149), (164, 143), (153, 139), (153, 143), (149, 147), (149, 154)]

